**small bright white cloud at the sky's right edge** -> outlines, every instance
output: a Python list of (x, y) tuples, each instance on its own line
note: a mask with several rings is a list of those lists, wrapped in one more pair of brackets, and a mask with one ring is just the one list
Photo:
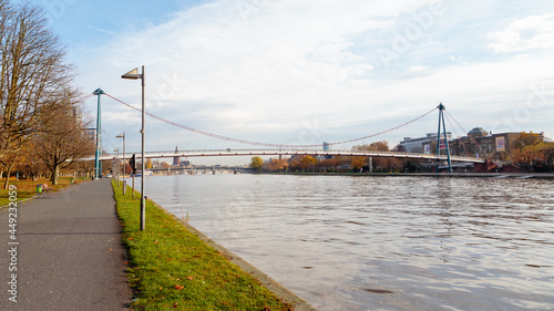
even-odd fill
[(554, 46), (554, 13), (513, 21), (506, 29), (488, 35), (489, 49), (496, 53), (520, 52)]

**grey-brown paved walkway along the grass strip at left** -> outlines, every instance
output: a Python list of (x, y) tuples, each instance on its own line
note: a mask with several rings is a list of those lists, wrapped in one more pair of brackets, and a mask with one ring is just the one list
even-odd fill
[(102, 179), (21, 205), (19, 245), (9, 245), (13, 215), (0, 211), (0, 310), (127, 310), (132, 292), (112, 194)]

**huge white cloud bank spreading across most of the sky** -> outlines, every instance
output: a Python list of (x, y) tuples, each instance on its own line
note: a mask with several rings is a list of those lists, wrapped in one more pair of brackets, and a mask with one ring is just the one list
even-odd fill
[[(120, 31), (89, 53), (94, 56), (81, 61), (80, 81), (94, 89), (101, 82), (109, 94), (138, 106), (140, 82), (120, 76), (144, 64), (148, 112), (248, 141), (345, 141), (399, 125), (440, 102), (468, 128), (486, 128), (491, 118), (510, 115), (525, 102), (530, 85), (541, 81), (537, 73), (552, 66), (552, 60), (523, 55), (488, 61), (468, 55), (455, 45), (481, 44), (490, 54), (488, 43), (472, 39), (492, 33), (481, 27), (484, 20), (492, 19), (491, 27), (497, 20), (489, 13), (468, 21), (455, 8), (445, 8), (444, 17), (435, 15), (432, 25), (422, 28), (398, 61), (379, 64), (376, 49), (391, 49), (390, 34), (418, 25), (414, 17), (421, 18), (433, 3), (442, 2), (212, 1), (175, 12), (154, 27)], [(464, 7), (464, 14), (479, 8)], [(538, 42), (538, 34), (547, 35), (552, 15), (519, 21), (505, 31)], [(536, 33), (525, 37), (532, 24)], [(471, 35), (456, 37), (461, 27), (471, 29)], [(476, 33), (483, 29), (486, 32)], [(495, 52), (523, 46), (502, 41), (500, 33), (490, 34), (491, 44), (499, 44), (490, 48)], [(124, 114), (113, 107), (119, 104), (106, 102), (103, 128), (137, 133), (134, 112)], [(408, 136), (435, 131), (435, 122), (430, 117)], [(523, 121), (497, 127), (523, 131), (531, 125)], [(150, 138), (152, 148), (171, 149), (183, 141), (187, 148), (227, 147), (227, 142), (208, 143), (209, 138), (202, 141), (155, 120), (148, 120), (148, 126), (147, 136), (155, 137)], [(394, 145), (397, 138), (387, 139)]]

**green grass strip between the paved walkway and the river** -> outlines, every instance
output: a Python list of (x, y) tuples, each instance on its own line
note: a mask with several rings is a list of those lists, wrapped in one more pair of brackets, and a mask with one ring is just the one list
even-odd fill
[(250, 274), (229, 262), (164, 210), (146, 201), (146, 230), (140, 231), (138, 196), (112, 182), (127, 278), (135, 310), (290, 310)]

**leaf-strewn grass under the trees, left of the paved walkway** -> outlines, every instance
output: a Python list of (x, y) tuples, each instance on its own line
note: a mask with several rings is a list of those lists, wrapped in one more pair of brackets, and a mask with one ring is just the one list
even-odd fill
[[(50, 183), (50, 179), (47, 178), (39, 178), (38, 180), (32, 180), (32, 179), (19, 179), (17, 180), (16, 178), (10, 178), (10, 185), (14, 185), (17, 187), (17, 193), (18, 193), (18, 201), (28, 199), (30, 197), (33, 197), (37, 195), (37, 185), (38, 184), (48, 184), (50, 187), (52, 187), (54, 190), (59, 190), (61, 188), (65, 188), (69, 185), (71, 185), (71, 180), (73, 177), (60, 177), (58, 179), (58, 185), (52, 186), (52, 183)], [(82, 183), (83, 179), (75, 180), (76, 183)], [(9, 204), (9, 190), (3, 189), (3, 183), (6, 179), (0, 179), (0, 207), (6, 206)]]

